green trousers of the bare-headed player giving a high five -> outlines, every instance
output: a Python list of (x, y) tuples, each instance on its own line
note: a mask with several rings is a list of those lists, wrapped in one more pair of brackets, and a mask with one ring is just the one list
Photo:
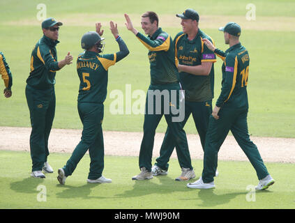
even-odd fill
[[(179, 146), (180, 150), (185, 151), (188, 154), (187, 159), (190, 159), (188, 151), (188, 141), (186, 138), (186, 132), (183, 130), (182, 121), (185, 116), (184, 107), (180, 107), (179, 83), (173, 84), (151, 84), (149, 91), (146, 94), (146, 111), (144, 114), (144, 136), (142, 138), (142, 144), (139, 151), (139, 168), (145, 167), (147, 171), (151, 171), (151, 160), (153, 155), (153, 143), (156, 134), (156, 128), (160, 123), (162, 116), (165, 116), (165, 120), (169, 129), (172, 132), (176, 146)], [(161, 95), (159, 96), (158, 93)], [(167, 94), (165, 94), (165, 92)], [(176, 94), (174, 94), (176, 93)], [(153, 97), (153, 100), (149, 100), (149, 97)], [(159, 100), (157, 100), (160, 98)], [(153, 107), (153, 109), (151, 109)], [(179, 114), (175, 114), (173, 109), (179, 109)], [(181, 110), (183, 109), (183, 110)], [(169, 110), (169, 112), (167, 112)], [(165, 112), (166, 111), (166, 112)], [(181, 120), (182, 112), (183, 118)], [(179, 118), (174, 119), (176, 116)]]

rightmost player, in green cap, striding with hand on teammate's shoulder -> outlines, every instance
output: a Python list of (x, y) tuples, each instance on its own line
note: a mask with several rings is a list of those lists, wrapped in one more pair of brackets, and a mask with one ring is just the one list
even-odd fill
[(239, 41), (241, 36), (239, 24), (229, 22), (219, 30), (224, 32), (225, 44), (229, 45), (229, 49), (222, 52), (209, 40), (204, 39), (204, 43), (224, 61), (222, 89), (210, 116), (202, 176), (187, 186), (198, 189), (215, 187), (213, 177), (218, 165), (218, 151), (230, 130), (256, 171), (259, 183), (255, 189), (264, 190), (273, 185), (275, 180), (268, 174), (257, 146), (250, 140), (248, 133), (247, 86), (250, 57), (248, 50)]

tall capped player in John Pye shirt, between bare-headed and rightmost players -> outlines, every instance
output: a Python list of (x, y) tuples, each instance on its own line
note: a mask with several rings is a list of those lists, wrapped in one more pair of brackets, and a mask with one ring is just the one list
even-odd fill
[[(192, 114), (197, 132), (204, 151), (206, 132), (209, 124), (209, 116), (212, 113), (212, 99), (214, 91), (214, 66), (216, 57), (202, 39), (206, 38), (213, 43), (206, 33), (199, 29), (199, 14), (197, 11), (188, 8), (176, 17), (181, 18), (183, 31), (174, 38), (175, 56), (178, 60), (178, 70), (181, 86), (186, 94), (186, 113), (183, 126)], [(153, 176), (166, 175), (168, 171), (169, 157), (175, 147), (175, 139), (167, 128), (164, 141), (160, 148), (160, 157), (152, 168)], [(176, 146), (176, 154), (182, 169), (182, 174), (176, 180), (189, 180), (191, 162), (186, 163), (190, 154), (183, 154), (183, 150)]]

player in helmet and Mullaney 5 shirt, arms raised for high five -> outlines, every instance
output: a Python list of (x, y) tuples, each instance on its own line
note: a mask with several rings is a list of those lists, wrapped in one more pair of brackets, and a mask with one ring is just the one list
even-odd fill
[(117, 24), (110, 22), (110, 29), (120, 51), (115, 54), (100, 54), (103, 52), (104, 38), (100, 35), (100, 23), (96, 24), (96, 32), (90, 31), (82, 36), (81, 47), (85, 51), (78, 56), (77, 73), (80, 78), (78, 95), (78, 112), (83, 124), (83, 132), (80, 143), (76, 146), (66, 165), (59, 169), (57, 180), (61, 185), (66, 178), (73, 174), (86, 151), (89, 150), (91, 159), (88, 183), (112, 183), (112, 179), (103, 176), (104, 168), (104, 144), (103, 144), (103, 102), (107, 97), (107, 79), (110, 66), (121, 61), (129, 54), (128, 47), (124, 43)]

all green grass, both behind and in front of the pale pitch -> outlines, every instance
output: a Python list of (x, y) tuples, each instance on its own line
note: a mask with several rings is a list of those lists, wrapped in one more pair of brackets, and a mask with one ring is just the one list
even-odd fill
[[(67, 52), (74, 63), (56, 73), (56, 114), (53, 128), (81, 129), (77, 113), (79, 80), (75, 59), (82, 52), (80, 39), (86, 31), (94, 30), (95, 22), (105, 29), (105, 52), (114, 53), (119, 47), (109, 31), (109, 21), (118, 23), (119, 33), (126, 41), (130, 54), (116, 66), (109, 68), (109, 85), (105, 100), (104, 130), (127, 132), (142, 131), (143, 115), (111, 114), (116, 90), (126, 96), (126, 84), (131, 91), (146, 91), (149, 86), (147, 49), (139, 43), (124, 25), (123, 13), (128, 13), (141, 31), (140, 15), (154, 10), (160, 17), (160, 26), (172, 38), (181, 31), (176, 13), (194, 8), (200, 15), (199, 28), (215, 40), (220, 49), (227, 49), (218, 27), (229, 21), (242, 27), (241, 43), (250, 53), (248, 96), (250, 134), (260, 137), (295, 137), (295, 1), (251, 1), (256, 6), (256, 20), (248, 21), (245, 1), (57, 1), (44, 0), (47, 17), (63, 22), (57, 45), (59, 59)], [(42, 36), (41, 21), (37, 20), (40, 1), (0, 1), (0, 51), (6, 56), (13, 73), (13, 96), (0, 97), (0, 126), (29, 127), (29, 109), (24, 95), (29, 76), (31, 50)], [(221, 66), (215, 63), (215, 98), (221, 89)], [(2, 81), (1, 81), (2, 82)], [(4, 88), (3, 82), (0, 86)], [(0, 89), (0, 91), (2, 91)], [(133, 98), (132, 103), (138, 98)], [(125, 102), (125, 101), (124, 101)], [(144, 102), (144, 98), (142, 100)], [(133, 104), (132, 104), (133, 105)], [(124, 107), (125, 109), (125, 107)], [(158, 132), (167, 127), (163, 118)], [(186, 124), (187, 133), (196, 133), (192, 118)], [(28, 139), (29, 144), (29, 139)], [(70, 154), (52, 153), (50, 164), (55, 171), (65, 164)], [(257, 185), (257, 176), (249, 162), (219, 162), (220, 177), (215, 190), (190, 190), (184, 182), (175, 182), (180, 169), (177, 160), (170, 162), (169, 175), (137, 182), (131, 177), (138, 174), (137, 157), (105, 157), (104, 175), (112, 184), (86, 183), (89, 156), (80, 162), (66, 185), (58, 185), (56, 173), (45, 180), (30, 178), (31, 159), (27, 152), (0, 151), (0, 208), (295, 208), (294, 163), (266, 163), (276, 183), (270, 190), (255, 193), (255, 201), (246, 190)], [(202, 160), (193, 160), (197, 177), (202, 171)], [(46, 202), (38, 201), (38, 185), (46, 188)], [(250, 186), (251, 187), (251, 186)], [(40, 195), (40, 194), (39, 194)]]

